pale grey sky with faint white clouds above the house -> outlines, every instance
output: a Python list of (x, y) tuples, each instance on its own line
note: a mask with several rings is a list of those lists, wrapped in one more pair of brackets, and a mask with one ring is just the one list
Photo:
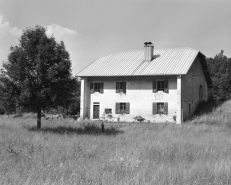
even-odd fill
[(144, 42), (231, 57), (230, 0), (0, 0), (0, 64), (22, 30), (36, 25), (64, 41), (73, 76), (101, 56), (143, 50)]

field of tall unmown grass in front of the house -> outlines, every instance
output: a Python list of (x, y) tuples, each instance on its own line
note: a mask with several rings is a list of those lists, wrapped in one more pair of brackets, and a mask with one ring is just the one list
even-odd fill
[(231, 184), (231, 101), (182, 125), (0, 117), (0, 184)]

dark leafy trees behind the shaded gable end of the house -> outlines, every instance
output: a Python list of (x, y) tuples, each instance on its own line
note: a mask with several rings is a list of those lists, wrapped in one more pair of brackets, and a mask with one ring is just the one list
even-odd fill
[(231, 58), (222, 53), (207, 59), (208, 68), (213, 82), (209, 97), (226, 100), (231, 98)]

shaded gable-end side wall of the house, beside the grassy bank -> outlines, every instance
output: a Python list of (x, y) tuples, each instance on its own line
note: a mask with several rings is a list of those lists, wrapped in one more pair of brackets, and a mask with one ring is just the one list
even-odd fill
[[(201, 66), (200, 59), (197, 57), (186, 75), (182, 75), (182, 109), (183, 120), (189, 118), (199, 103), (199, 88), (202, 85), (203, 100), (208, 99), (208, 86)], [(189, 114), (189, 104), (191, 111)]]

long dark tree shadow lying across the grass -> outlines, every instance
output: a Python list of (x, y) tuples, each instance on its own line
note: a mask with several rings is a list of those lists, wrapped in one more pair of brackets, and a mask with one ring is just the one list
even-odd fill
[(105, 128), (104, 132), (102, 132), (101, 127), (97, 125), (85, 125), (84, 127), (42, 127), (41, 129), (37, 129), (36, 127), (27, 128), (29, 131), (43, 132), (43, 133), (53, 133), (53, 134), (76, 134), (76, 135), (107, 135), (107, 136), (115, 136), (117, 134), (124, 133), (122, 130), (118, 130), (114, 127)]

